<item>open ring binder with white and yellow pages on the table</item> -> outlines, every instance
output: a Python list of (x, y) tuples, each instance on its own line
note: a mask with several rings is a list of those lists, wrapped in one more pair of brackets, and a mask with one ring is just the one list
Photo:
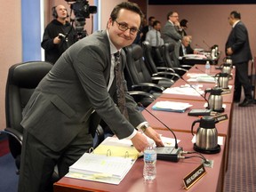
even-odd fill
[(131, 140), (108, 137), (72, 164), (66, 177), (118, 185), (139, 156)]

